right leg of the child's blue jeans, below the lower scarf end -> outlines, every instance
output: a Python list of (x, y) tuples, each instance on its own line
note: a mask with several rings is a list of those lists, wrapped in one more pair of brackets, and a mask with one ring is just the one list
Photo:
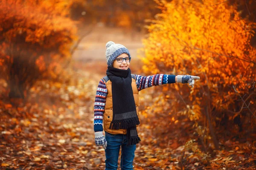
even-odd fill
[(127, 141), (122, 144), (122, 155), (121, 155), (121, 169), (122, 170), (133, 170), (134, 152), (136, 150), (136, 144), (126, 146)]

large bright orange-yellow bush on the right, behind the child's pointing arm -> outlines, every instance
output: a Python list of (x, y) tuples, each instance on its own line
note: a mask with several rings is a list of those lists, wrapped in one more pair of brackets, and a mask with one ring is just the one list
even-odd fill
[(158, 3), (162, 13), (152, 20), (143, 41), (143, 71), (201, 79), (194, 88), (181, 84), (161, 88), (145, 113), (167, 114), (170, 120), (177, 113), (187, 115), (201, 141), (207, 146), (213, 143), (215, 149), (215, 130), (255, 133), (256, 49), (250, 45), (255, 23), (221, 0)]

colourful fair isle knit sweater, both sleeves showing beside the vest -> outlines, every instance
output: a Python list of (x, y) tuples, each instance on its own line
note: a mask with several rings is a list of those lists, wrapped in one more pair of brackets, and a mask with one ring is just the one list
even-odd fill
[[(138, 91), (153, 85), (164, 85), (167, 83), (175, 83), (175, 75), (155, 74), (153, 76), (135, 75), (136, 85)], [(96, 91), (96, 98), (94, 103), (94, 131), (103, 131), (103, 114), (105, 109), (106, 97), (108, 90), (103, 79), (100, 79)]]

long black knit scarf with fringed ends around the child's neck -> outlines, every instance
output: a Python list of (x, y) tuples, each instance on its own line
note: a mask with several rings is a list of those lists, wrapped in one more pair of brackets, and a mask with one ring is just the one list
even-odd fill
[(131, 70), (108, 67), (107, 76), (112, 82), (113, 119), (110, 129), (127, 129), (127, 145), (140, 142), (136, 125), (140, 124), (131, 87)]

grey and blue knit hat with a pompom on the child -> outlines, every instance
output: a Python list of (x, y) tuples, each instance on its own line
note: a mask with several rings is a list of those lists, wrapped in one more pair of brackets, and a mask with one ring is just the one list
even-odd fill
[(113, 41), (107, 42), (106, 48), (106, 59), (108, 66), (110, 67), (113, 65), (113, 62), (116, 59), (116, 57), (123, 53), (126, 53), (129, 57), (131, 57), (128, 49), (124, 45), (116, 44)]

